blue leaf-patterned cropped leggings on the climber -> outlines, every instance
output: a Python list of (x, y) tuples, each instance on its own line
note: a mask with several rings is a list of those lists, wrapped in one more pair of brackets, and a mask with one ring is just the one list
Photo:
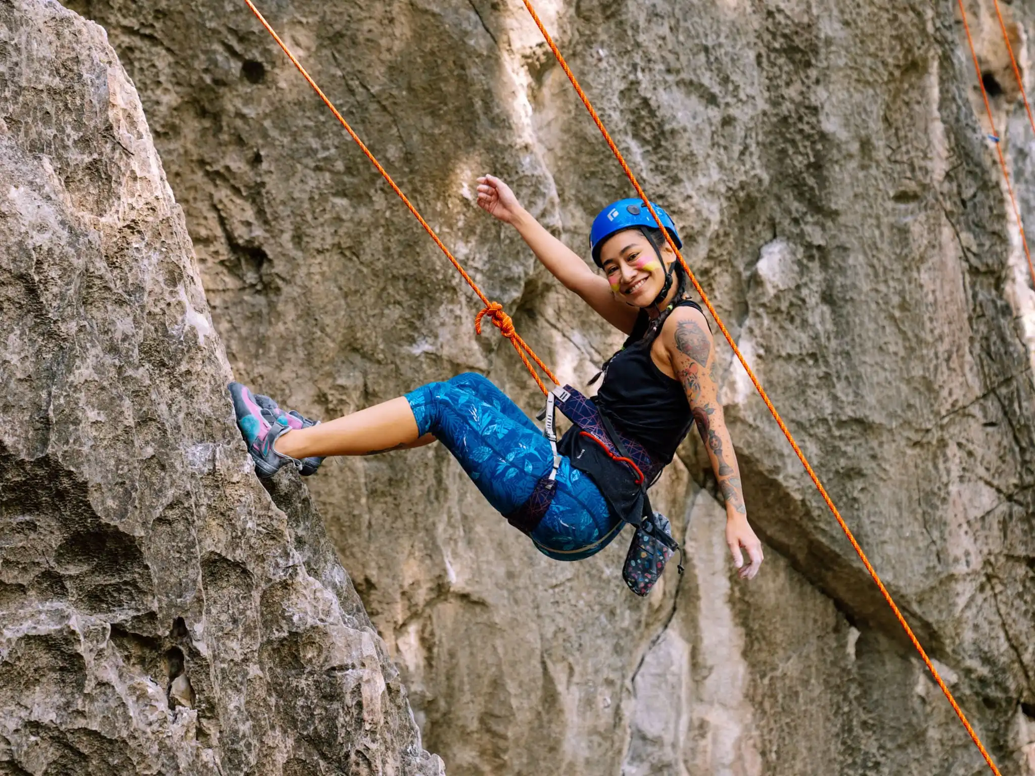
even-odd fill
[[(507, 514), (524, 504), (550, 472), (550, 441), (521, 409), (481, 375), (457, 375), (406, 394), (421, 436), (431, 431), (474, 481), (482, 496)], [(545, 556), (576, 561), (611, 543), (622, 529), (596, 485), (562, 458), (557, 493), (532, 542)]]

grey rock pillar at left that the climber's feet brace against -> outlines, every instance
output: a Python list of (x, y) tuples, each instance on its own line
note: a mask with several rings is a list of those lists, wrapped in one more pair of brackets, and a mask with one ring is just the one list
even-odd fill
[(0, 3), (0, 771), (441, 774), (304, 488), (252, 474), (137, 91), (53, 0)]

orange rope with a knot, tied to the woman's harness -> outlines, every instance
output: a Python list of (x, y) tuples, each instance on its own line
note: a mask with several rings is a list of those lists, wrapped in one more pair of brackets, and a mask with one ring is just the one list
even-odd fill
[(285, 42), (280, 39), (280, 36), (276, 34), (276, 31), (272, 27), (270, 27), (269, 22), (267, 22), (265, 17), (263, 17), (263, 14), (259, 12), (259, 9), (255, 6), (252, 0), (244, 0), (244, 2), (248, 6), (248, 8), (252, 9), (252, 12), (256, 14), (256, 19), (259, 20), (262, 26), (266, 28), (266, 31), (273, 37), (273, 39), (276, 41), (276, 44), (279, 46), (280, 49), (284, 51), (284, 53), (288, 55), (288, 59), (291, 60), (291, 63), (298, 68), (298, 71), (300, 73), (302, 73), (302, 77), (305, 79), (306, 82), (308, 82), (308, 85), (313, 87), (313, 90), (319, 95), (320, 99), (323, 100), (324, 105), (327, 106), (327, 108), (330, 109), (330, 112), (334, 114), (334, 118), (336, 118), (339, 122), (342, 122), (342, 126), (345, 127), (345, 130), (349, 133), (349, 137), (352, 138), (355, 144), (359, 146), (359, 150), (361, 150), (363, 152), (363, 155), (371, 160), (371, 163), (377, 168), (378, 172), (381, 173), (381, 177), (383, 177), (388, 182), (388, 185), (391, 186), (391, 189), (396, 195), (398, 195), (398, 198), (403, 201), (403, 204), (406, 205), (406, 207), (410, 210), (411, 213), (413, 213), (413, 217), (416, 218), (418, 221), (420, 221), (420, 226), (424, 228), (424, 231), (427, 232), (428, 236), (435, 241), (435, 244), (439, 246), (439, 249), (443, 253), (445, 253), (446, 259), (448, 259), (452, 263), (453, 267), (456, 268), (456, 271), (460, 272), (463, 278), (467, 281), (467, 285), (471, 287), (471, 290), (478, 295), (478, 299), (481, 300), (481, 303), (484, 306), (482, 307), (481, 311), (478, 312), (478, 315), (475, 317), (474, 320), (475, 332), (478, 334), (481, 333), (482, 319), (489, 318), (496, 326), (496, 328), (500, 330), (500, 333), (510, 340), (510, 344), (514, 347), (514, 350), (518, 351), (518, 355), (521, 356), (521, 360), (525, 364), (525, 367), (528, 369), (529, 374), (535, 380), (535, 384), (539, 386), (539, 390), (542, 391), (544, 394), (549, 393), (549, 391), (546, 390), (546, 386), (543, 384), (542, 380), (539, 378), (535, 368), (532, 366), (533, 362), (536, 364), (536, 366), (542, 369), (543, 375), (545, 375), (554, 382), (554, 385), (559, 385), (560, 383), (558, 382), (557, 378), (554, 377), (554, 372), (550, 370), (550, 367), (546, 366), (546, 364), (544, 364), (537, 355), (535, 355), (535, 352), (514, 330), (513, 321), (510, 320), (510, 316), (508, 316), (506, 312), (503, 311), (503, 305), (501, 305), (499, 302), (490, 301), (489, 297), (486, 297), (481, 292), (481, 289), (478, 288), (478, 285), (471, 278), (471, 276), (467, 273), (464, 267), (461, 266), (461, 263), (456, 260), (456, 257), (454, 257), (452, 252), (449, 250), (449, 248), (445, 246), (445, 243), (443, 243), (442, 240), (439, 239), (439, 236), (435, 233), (435, 230), (428, 226), (427, 221), (424, 220), (423, 216), (421, 216), (420, 213), (417, 212), (417, 208), (415, 208), (413, 206), (413, 203), (410, 202), (409, 198), (405, 193), (403, 193), (403, 189), (401, 189), (395, 184), (395, 181), (392, 180), (392, 177), (388, 175), (388, 172), (381, 166), (381, 162), (377, 160), (377, 158), (374, 156), (371, 150), (366, 147), (366, 144), (364, 144), (363, 141), (360, 140), (359, 136), (356, 135), (356, 132), (353, 130), (353, 128), (349, 126), (349, 122), (346, 121), (345, 118), (342, 116), (342, 114), (337, 112), (337, 109), (334, 108), (334, 105), (327, 98), (327, 95), (323, 93), (323, 90), (319, 86), (317, 86), (317, 82), (314, 81), (313, 78), (309, 76), (309, 73), (305, 71), (305, 68), (302, 67), (301, 62), (299, 62), (295, 58), (295, 55), (291, 53), (291, 51), (288, 49)]

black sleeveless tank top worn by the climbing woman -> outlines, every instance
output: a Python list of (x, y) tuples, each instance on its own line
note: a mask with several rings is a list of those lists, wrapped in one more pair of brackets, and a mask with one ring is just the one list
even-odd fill
[[(701, 307), (689, 299), (677, 307)], [(650, 321), (642, 311), (625, 347), (608, 364), (594, 401), (622, 432), (669, 464), (693, 416), (682, 383), (661, 371), (650, 356), (655, 337), (644, 338)]]

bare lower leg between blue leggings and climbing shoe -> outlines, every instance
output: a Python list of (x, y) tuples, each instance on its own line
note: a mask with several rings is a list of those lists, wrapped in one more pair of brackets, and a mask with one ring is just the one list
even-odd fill
[(417, 437), (417, 420), (404, 396), (389, 399), (351, 415), (308, 428), (296, 428), (276, 440), (282, 455), (371, 455), (388, 450), (420, 447), (435, 441)]

